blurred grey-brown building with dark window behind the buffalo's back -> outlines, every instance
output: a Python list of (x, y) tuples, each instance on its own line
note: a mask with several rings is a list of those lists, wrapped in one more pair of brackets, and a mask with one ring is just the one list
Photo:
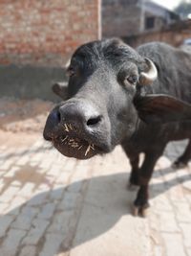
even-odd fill
[(147, 0), (102, 0), (102, 35), (128, 36), (157, 31), (179, 15)]

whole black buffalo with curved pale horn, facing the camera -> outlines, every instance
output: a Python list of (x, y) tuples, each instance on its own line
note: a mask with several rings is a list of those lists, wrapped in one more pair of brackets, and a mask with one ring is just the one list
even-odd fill
[[(132, 165), (130, 183), (139, 186), (135, 206), (141, 214), (166, 144), (191, 138), (191, 55), (159, 42), (134, 50), (115, 38), (97, 40), (74, 52), (68, 74), (67, 87), (53, 86), (64, 102), (50, 113), (44, 138), (78, 159), (121, 145)], [(175, 164), (190, 158), (191, 141)]]

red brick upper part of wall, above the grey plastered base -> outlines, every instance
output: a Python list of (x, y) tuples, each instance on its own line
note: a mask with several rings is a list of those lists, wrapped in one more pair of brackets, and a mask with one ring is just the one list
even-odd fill
[(100, 0), (0, 0), (0, 64), (60, 66), (99, 37)]

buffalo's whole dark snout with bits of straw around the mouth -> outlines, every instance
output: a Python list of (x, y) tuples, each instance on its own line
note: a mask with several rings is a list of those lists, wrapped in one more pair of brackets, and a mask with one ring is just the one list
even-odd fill
[(44, 138), (64, 155), (87, 159), (108, 144), (108, 125), (98, 108), (85, 100), (70, 100), (53, 109)]

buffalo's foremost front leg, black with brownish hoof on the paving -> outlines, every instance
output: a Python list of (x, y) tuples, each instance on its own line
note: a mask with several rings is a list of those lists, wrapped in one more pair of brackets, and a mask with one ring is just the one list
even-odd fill
[(139, 189), (136, 200), (134, 201), (134, 215), (144, 216), (145, 210), (149, 207), (149, 181), (153, 174), (159, 156), (162, 154), (164, 147), (159, 151), (149, 151), (145, 153), (145, 159), (139, 170)]

